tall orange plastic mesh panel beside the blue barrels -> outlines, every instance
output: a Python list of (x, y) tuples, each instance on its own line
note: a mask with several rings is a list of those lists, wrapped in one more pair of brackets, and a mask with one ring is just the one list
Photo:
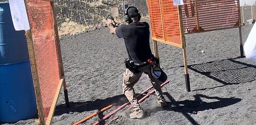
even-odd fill
[(33, 37), (44, 119), (46, 120), (60, 82), (54, 37), (54, 16), (50, 2), (27, 0), (27, 11)]

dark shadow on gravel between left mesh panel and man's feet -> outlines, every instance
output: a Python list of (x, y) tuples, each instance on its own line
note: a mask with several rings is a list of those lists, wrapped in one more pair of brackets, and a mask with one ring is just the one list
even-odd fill
[[(106, 99), (96, 99), (95, 101), (86, 101), (86, 102), (69, 102), (70, 108), (67, 109), (65, 104), (61, 104), (56, 106), (56, 110), (54, 116), (62, 115), (68, 112), (85, 112), (85, 111), (100, 111), (104, 107), (109, 106), (110, 104), (116, 103), (115, 106), (122, 105), (126, 103), (128, 100), (126, 99), (125, 95), (117, 95), (114, 97), (108, 97)], [(97, 112), (97, 111), (95, 111)], [(99, 118), (103, 118), (104, 115), (100, 113)]]

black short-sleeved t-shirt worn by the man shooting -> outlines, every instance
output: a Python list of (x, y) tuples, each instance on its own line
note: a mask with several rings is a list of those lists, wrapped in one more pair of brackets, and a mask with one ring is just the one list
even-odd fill
[(135, 63), (147, 62), (153, 56), (149, 46), (149, 24), (134, 22), (116, 28), (118, 38), (124, 38), (126, 48)]

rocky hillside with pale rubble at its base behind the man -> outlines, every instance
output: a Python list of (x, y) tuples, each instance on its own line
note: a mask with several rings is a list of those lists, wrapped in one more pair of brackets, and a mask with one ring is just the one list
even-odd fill
[[(8, 2), (8, 0), (0, 0), (0, 2)], [(125, 5), (136, 6), (142, 16), (148, 15), (146, 0), (55, 0), (54, 7), (60, 35), (79, 34), (88, 29), (105, 26), (106, 19), (111, 16), (112, 7), (118, 8), (119, 17), (116, 19), (121, 22)]]

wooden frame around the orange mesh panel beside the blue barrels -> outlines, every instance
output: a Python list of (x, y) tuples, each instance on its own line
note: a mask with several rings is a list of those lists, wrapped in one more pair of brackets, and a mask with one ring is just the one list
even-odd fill
[[(63, 69), (63, 63), (62, 63), (62, 56), (61, 56), (61, 49), (60, 49), (60, 40), (59, 40), (59, 34), (58, 34), (58, 26), (55, 18), (55, 11), (54, 11), (54, 1), (53, 0), (41, 0), (45, 2), (51, 2), (52, 6), (52, 13), (53, 13), (53, 23), (54, 23), (54, 37), (56, 39), (56, 50), (57, 50), (57, 59), (58, 59), (58, 64), (59, 64), (59, 76), (60, 76), (60, 81), (58, 88), (56, 90), (56, 93), (53, 98), (52, 105), (50, 107), (50, 112), (49, 115), (46, 118), (44, 117), (44, 110), (43, 110), (43, 101), (42, 101), (42, 96), (41, 96), (41, 89), (40, 89), (40, 84), (39, 84), (39, 76), (38, 76), (38, 69), (37, 69), (37, 64), (36, 64), (36, 57), (35, 57), (35, 49), (34, 49), (34, 44), (33, 44), (33, 37), (31, 30), (26, 30), (26, 39), (27, 39), (27, 45), (28, 45), (28, 51), (29, 51), (29, 60), (30, 60), (30, 65), (31, 65), (31, 72), (33, 76), (33, 82), (34, 82), (34, 89), (35, 89), (35, 95), (36, 95), (36, 105), (37, 105), (37, 111), (38, 111), (38, 119), (36, 120), (36, 124), (51, 124), (51, 120), (54, 115), (55, 107), (57, 105), (57, 101), (59, 98), (60, 90), (63, 86), (64, 90), (64, 96), (65, 96), (65, 104), (66, 107), (69, 108), (69, 99), (68, 99), (68, 90), (67, 90), (67, 85), (65, 81), (65, 74), (64, 74), (64, 69)], [(27, 7), (27, 0), (24, 0), (25, 2), (25, 7), (26, 10), (28, 10)], [(27, 15), (28, 11), (27, 11)], [(29, 21), (29, 16), (28, 16), (28, 21)], [(31, 28), (31, 24), (29, 22), (29, 27)]]

